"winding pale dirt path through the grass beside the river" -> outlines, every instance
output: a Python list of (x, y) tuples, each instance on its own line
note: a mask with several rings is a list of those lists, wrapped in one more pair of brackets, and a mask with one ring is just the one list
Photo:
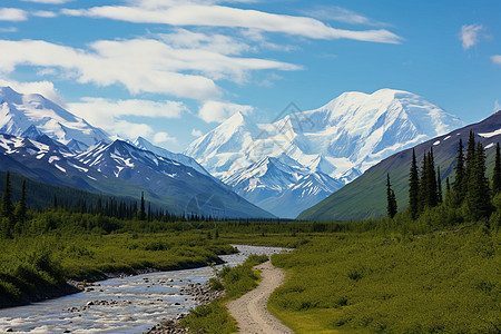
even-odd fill
[(239, 333), (294, 333), (266, 310), (269, 295), (284, 282), (284, 272), (274, 267), (269, 261), (255, 268), (261, 271), (259, 285), (227, 304), (229, 313), (238, 322)]

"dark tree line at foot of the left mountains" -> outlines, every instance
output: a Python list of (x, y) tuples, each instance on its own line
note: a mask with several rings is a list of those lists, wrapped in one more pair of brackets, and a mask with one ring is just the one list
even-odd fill
[[(99, 196), (99, 195), (96, 195)], [(67, 222), (59, 222), (55, 214), (61, 217), (65, 214)], [(85, 217), (84, 217), (85, 216)], [(73, 222), (75, 220), (75, 222)], [(80, 220), (80, 222), (78, 222)], [(100, 228), (112, 232), (124, 227), (120, 222), (154, 223), (156, 225), (174, 222), (213, 222), (212, 216), (195, 213), (174, 214), (163, 207), (153, 207), (145, 200), (141, 193), (139, 205), (137, 200), (117, 199), (114, 197), (97, 197), (97, 200), (53, 195), (50, 207), (29, 208), (27, 204), (26, 179), (22, 180), (21, 196), (17, 203), (12, 200), (11, 176), (6, 174), (3, 193), (0, 200), (0, 237), (12, 238), (16, 235), (30, 234), (31, 232), (47, 232), (59, 227), (61, 224), (80, 224), (85, 229)], [(35, 227), (33, 227), (35, 226)], [(158, 226), (156, 227), (158, 228)]]

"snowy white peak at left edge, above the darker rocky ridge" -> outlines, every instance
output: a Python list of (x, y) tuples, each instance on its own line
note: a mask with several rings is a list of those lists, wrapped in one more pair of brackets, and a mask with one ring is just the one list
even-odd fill
[(19, 94), (0, 87), (0, 134), (38, 137), (41, 134), (82, 150), (108, 135), (38, 94)]

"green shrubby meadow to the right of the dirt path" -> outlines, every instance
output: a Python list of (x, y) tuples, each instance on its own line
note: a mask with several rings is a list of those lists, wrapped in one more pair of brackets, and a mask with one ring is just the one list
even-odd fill
[(272, 312), (297, 333), (497, 333), (498, 232), (314, 238), (273, 263), (289, 274)]

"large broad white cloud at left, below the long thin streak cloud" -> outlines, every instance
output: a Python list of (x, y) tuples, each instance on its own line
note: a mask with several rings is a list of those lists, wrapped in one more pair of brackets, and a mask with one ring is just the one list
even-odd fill
[(155, 39), (101, 40), (91, 43), (90, 50), (39, 40), (0, 40), (0, 49), (9, 50), (0, 52), (3, 72), (21, 65), (59, 68), (81, 84), (122, 84), (131, 94), (158, 92), (191, 99), (217, 97), (217, 79), (242, 82), (253, 70), (301, 69), (275, 60), (176, 49)]

